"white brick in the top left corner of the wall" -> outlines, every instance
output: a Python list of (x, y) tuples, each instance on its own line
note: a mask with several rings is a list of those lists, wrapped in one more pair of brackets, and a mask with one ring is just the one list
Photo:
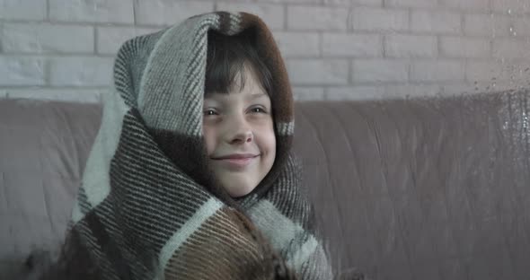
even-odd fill
[(0, 19), (36, 20), (46, 19), (47, 0), (0, 0)]

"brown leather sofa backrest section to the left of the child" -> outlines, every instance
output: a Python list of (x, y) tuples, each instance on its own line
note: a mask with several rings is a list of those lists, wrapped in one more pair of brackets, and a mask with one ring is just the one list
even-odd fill
[(99, 106), (0, 101), (0, 259), (63, 240)]

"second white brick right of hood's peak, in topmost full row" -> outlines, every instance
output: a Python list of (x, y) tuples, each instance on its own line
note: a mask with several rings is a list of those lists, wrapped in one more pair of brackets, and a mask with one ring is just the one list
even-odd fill
[(356, 31), (407, 31), (409, 12), (405, 10), (354, 8), (352, 19)]

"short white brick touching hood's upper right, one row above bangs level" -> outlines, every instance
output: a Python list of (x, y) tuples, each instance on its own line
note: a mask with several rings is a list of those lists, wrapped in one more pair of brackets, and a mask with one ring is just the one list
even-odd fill
[(315, 32), (274, 32), (283, 57), (318, 57), (319, 35)]

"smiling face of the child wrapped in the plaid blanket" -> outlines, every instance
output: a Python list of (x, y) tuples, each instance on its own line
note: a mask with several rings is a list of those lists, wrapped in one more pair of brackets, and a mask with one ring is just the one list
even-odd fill
[[(245, 68), (244, 87), (229, 94), (209, 93), (204, 100), (203, 134), (210, 164), (223, 188), (242, 197), (272, 168), (276, 137), (270, 99), (253, 71)], [(239, 81), (236, 77), (235, 81)]]

